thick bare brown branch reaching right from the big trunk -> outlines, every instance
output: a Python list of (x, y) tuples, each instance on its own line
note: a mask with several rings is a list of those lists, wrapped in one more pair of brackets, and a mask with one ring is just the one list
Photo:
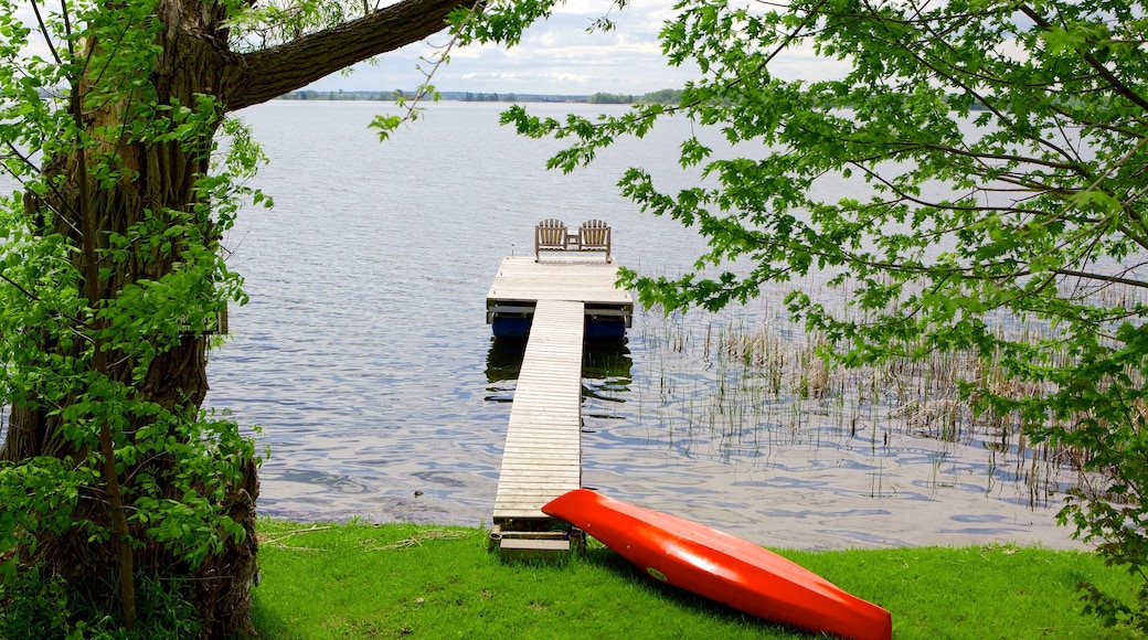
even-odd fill
[(227, 111), (259, 104), (335, 71), (442, 31), (467, 0), (404, 0), (366, 17), (243, 54), (225, 73)]

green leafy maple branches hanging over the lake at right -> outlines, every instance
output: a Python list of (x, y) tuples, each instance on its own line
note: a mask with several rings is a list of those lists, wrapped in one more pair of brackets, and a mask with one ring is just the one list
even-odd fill
[[(714, 310), (788, 283), (792, 314), (845, 365), (934, 350), (994, 360), (1006, 380), (964, 393), (1079, 452), (1062, 521), (1143, 577), (1146, 9), (681, 0), (662, 49), (699, 79), (680, 107), (561, 122), (513, 108), (504, 119), (572, 140), (551, 159), (565, 171), (667, 114), (719, 130), (734, 157), (698, 138), (681, 146), (701, 185), (662, 193), (639, 167), (620, 182), (643, 210), (708, 239), (695, 273), (627, 272), (642, 301)], [(775, 72), (794, 53), (838, 72)], [(824, 189), (831, 180), (851, 192)], [(810, 275), (845, 303), (804, 291)], [(1122, 606), (1089, 593), (1101, 616), (1148, 630), (1145, 595)]]

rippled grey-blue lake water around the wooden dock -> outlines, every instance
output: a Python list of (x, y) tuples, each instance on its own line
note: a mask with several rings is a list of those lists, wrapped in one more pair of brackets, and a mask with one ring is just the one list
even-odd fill
[[(691, 126), (666, 123), (563, 175), (544, 169), (557, 145), (499, 127), (497, 104), (432, 106), (380, 143), (366, 124), (387, 109), (242, 112), (276, 208), (245, 211), (227, 239), (251, 302), (231, 310), (208, 404), (262, 427), (265, 515), (488, 525), (518, 357), (484, 325), (499, 260), (529, 253), (542, 218), (603, 218), (620, 263), (688, 268), (703, 242), (614, 185), (629, 165), (689, 184), (674, 158)], [(590, 110), (535, 107), (568, 109)], [(984, 437), (916, 437), (876, 411), (843, 428), (843, 409), (817, 401), (727, 411), (728, 372), (705, 336), (784, 333), (768, 306), (779, 295), (720, 317), (639, 313), (625, 350), (589, 354), (583, 482), (774, 546), (1072, 544), (1054, 525), (1060, 497), (1017, 482), (1025, 462)]]

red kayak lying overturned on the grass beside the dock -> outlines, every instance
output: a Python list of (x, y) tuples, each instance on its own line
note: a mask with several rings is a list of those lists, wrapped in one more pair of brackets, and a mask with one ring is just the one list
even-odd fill
[(542, 507), (654, 578), (746, 614), (858, 640), (889, 640), (889, 611), (753, 543), (575, 489)]

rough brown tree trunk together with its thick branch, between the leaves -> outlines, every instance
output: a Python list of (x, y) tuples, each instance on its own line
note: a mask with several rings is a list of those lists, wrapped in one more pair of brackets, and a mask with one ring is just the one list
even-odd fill
[[(149, 81), (155, 87), (160, 104), (178, 101), (192, 106), (197, 94), (219, 99), (223, 109), (218, 114), (219, 120), (215, 123), (218, 126), (226, 111), (273, 99), (349, 64), (440, 31), (447, 13), (458, 5), (458, 0), (409, 0), (328, 31), (241, 55), (227, 47), (223, 5), (200, 0), (160, 0), (157, 16), (163, 29), (157, 44), (161, 53)], [(83, 86), (83, 81), (78, 86)], [(96, 127), (115, 124), (116, 118), (123, 116), (122, 104), (106, 104), (84, 114), (84, 125), (95, 131)], [(92, 179), (86, 186), (82, 185), (85, 173), (79, 169), (91, 156), (76, 153), (51, 158), (45, 171), (64, 175), (67, 180), (52, 196), (25, 197), (26, 209), (33, 216), (40, 212), (39, 217), (46, 220), (46, 225), (69, 237), (76, 247), (84, 241), (80, 229), (85, 225), (79, 217), (82, 212), (87, 212), (95, 231), (98, 250), (107, 248), (109, 233), (126, 235), (132, 226), (145, 221), (149, 214), (191, 214), (196, 198), (193, 190), (195, 180), (209, 169), (209, 158), (203, 150), (211, 148), (214, 132), (212, 128), (200, 143), (191, 146), (185, 142), (145, 143), (132, 138), (106, 141), (106, 145), (116, 147), (125, 170), (124, 179), (111, 186), (98, 186)], [(78, 201), (85, 197), (86, 206), (80, 206)], [(200, 226), (201, 233), (193, 236), (202, 239), (210, 249), (217, 249), (215, 243), (218, 237), (212, 231), (212, 221), (200, 219), (194, 224)], [(141, 280), (158, 280), (172, 271), (172, 255), (177, 253), (137, 248), (115, 264), (101, 256), (99, 266), (104, 275), (95, 288), (98, 299), (90, 302), (98, 306), (100, 301), (115, 298), (125, 286)], [(88, 267), (92, 265), (83, 264), (84, 252), (76, 251), (73, 255), (78, 273), (91, 273)], [(51, 345), (45, 346), (51, 349)], [(111, 378), (134, 385), (145, 400), (188, 417), (199, 413), (208, 391), (207, 344), (202, 336), (185, 337), (174, 348), (160, 353), (141, 381), (133, 380), (135, 364), (123, 353), (111, 351), (106, 368)], [(131, 424), (124, 432), (133, 434), (140, 426)], [(20, 462), (40, 455), (86, 455), (86, 452), (76, 451), (77, 445), (64, 437), (62, 427), (59, 415), (23, 405), (14, 406), (0, 459)], [(148, 459), (134, 469), (121, 471), (121, 475), (132, 477), (147, 473), (152, 477), (164, 478), (174, 473), (177, 463), (177, 460), (162, 456)], [(258, 497), (258, 479), (254, 461), (249, 460), (243, 469), (243, 478), (228, 485), (223, 508), (246, 529), (245, 541), (228, 541), (223, 553), (209, 556), (194, 571), (155, 543), (138, 546), (131, 562), (137, 572), (192, 578), (188, 584), (194, 586), (189, 596), (200, 608), (207, 624), (205, 633), (211, 637), (253, 631), (248, 609), (250, 587), (257, 572), (255, 500)], [(131, 487), (125, 491), (130, 492)], [(172, 498), (179, 499), (179, 495)], [(129, 494), (126, 504), (130, 500)], [(107, 500), (82, 501), (80, 508), (84, 517), (111, 522)], [(137, 543), (148, 540), (140, 525), (131, 530), (131, 538)], [(71, 585), (86, 585), (90, 596), (107, 598), (116, 591), (108, 586), (115, 584), (113, 576), (117, 570), (114, 546), (114, 540), (102, 547), (92, 545), (83, 534), (76, 533), (41, 541), (38, 555), (57, 575), (67, 577)]]

